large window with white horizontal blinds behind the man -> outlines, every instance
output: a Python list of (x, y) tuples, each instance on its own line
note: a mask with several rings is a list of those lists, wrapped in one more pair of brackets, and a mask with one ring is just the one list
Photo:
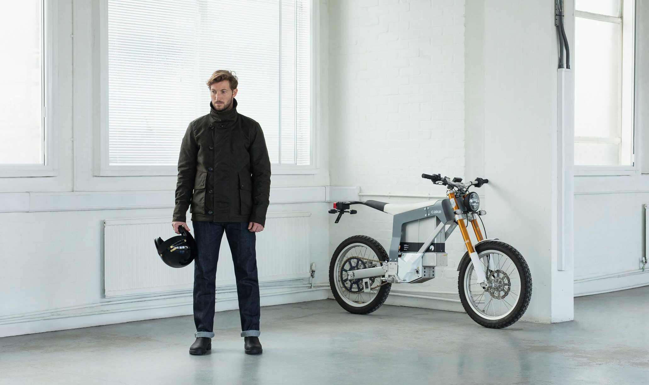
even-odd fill
[(271, 163), (310, 165), (310, 1), (108, 0), (102, 169), (176, 174), (216, 69), (238, 76), (238, 111), (261, 124)]

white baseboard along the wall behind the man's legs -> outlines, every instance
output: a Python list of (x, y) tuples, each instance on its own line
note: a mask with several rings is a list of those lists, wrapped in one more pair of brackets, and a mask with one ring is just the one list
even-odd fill
[[(260, 303), (262, 307), (281, 305), (283, 303), (296, 303), (326, 299), (328, 287), (285, 288), (285, 289), (260, 289)], [(217, 292), (216, 311), (238, 309), (236, 292), (219, 294)], [(34, 315), (5, 317), (0, 320), (0, 337), (19, 336), (49, 331), (79, 329), (114, 323), (132, 321), (155, 320), (193, 314), (192, 294), (162, 299), (148, 299), (147, 301), (127, 303), (102, 303), (89, 305), (86, 308), (73, 310), (51, 310)], [(193, 334), (193, 331), (189, 331)]]

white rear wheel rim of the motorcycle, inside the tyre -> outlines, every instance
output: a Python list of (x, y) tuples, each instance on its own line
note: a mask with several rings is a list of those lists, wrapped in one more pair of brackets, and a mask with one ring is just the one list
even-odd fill
[[(376, 253), (374, 253), (374, 250), (372, 250), (367, 244), (363, 243), (352, 243), (349, 246), (347, 246), (343, 251), (341, 251), (338, 256), (336, 257), (336, 265), (334, 266), (334, 274), (336, 276), (334, 277), (334, 283), (335, 283), (335, 288), (336, 292), (338, 293), (338, 296), (347, 303), (347, 305), (353, 306), (353, 307), (363, 307), (373, 301), (374, 298), (376, 298), (376, 295), (378, 294), (378, 290), (380, 288), (376, 287), (370, 290), (369, 293), (365, 293), (363, 291), (359, 292), (358, 294), (352, 294), (349, 292), (349, 290), (345, 289), (345, 283), (349, 283), (349, 281), (346, 281), (345, 274), (341, 274), (341, 269), (344, 266), (341, 266), (342, 264), (345, 264), (346, 261), (349, 261), (350, 258), (354, 257), (362, 257), (362, 258), (369, 258), (369, 259), (375, 259), (376, 260), (376, 266), (381, 266), (381, 262), (378, 259), (378, 256)], [(371, 264), (372, 262), (370, 261), (365, 261), (366, 266), (365, 267), (372, 267)], [(351, 270), (350, 270), (351, 271)], [(341, 275), (343, 275), (343, 278), (341, 278)], [(356, 280), (354, 280), (356, 281)], [(362, 279), (359, 280), (362, 283)], [(380, 279), (374, 279), (373, 287), (380, 285), (381, 281)], [(357, 286), (360, 288), (360, 286)]]

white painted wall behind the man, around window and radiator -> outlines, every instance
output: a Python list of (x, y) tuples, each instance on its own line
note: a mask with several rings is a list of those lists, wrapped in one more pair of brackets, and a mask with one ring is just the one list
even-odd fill
[[(0, 222), (5, 224), (0, 239), (5, 266), (0, 269), (0, 336), (192, 314), (191, 293), (145, 300), (103, 297), (102, 221), (169, 216), (171, 222), (176, 176), (93, 176), (93, 138), (99, 134), (95, 113), (99, 94), (94, 82), (99, 62), (93, 51), (99, 39), (96, 2), (57, 3), (58, 60), (53, 72), (59, 87), (56, 108), (49, 113), (56, 114), (58, 174), (0, 178)], [(324, 204), (324, 186), (329, 184), (328, 104), (320, 102), (326, 100), (328, 89), (326, 12), (323, 17), (315, 19), (324, 29), (324, 38), (317, 40), (315, 47), (317, 69), (322, 69), (315, 102), (319, 170), (315, 174), (274, 174), (269, 207), (269, 212), (312, 213), (313, 252), (305, 258), (317, 263), (316, 284), (328, 281), (329, 218)], [(205, 96), (208, 100), (208, 93)], [(172, 235), (171, 230), (160, 234), (163, 238)], [(327, 296), (326, 288), (273, 294), (277, 291), (262, 290), (262, 305)], [(287, 291), (293, 290), (283, 292)], [(236, 294), (221, 299), (217, 310), (238, 306)], [(188, 325), (191, 335), (193, 323)]]

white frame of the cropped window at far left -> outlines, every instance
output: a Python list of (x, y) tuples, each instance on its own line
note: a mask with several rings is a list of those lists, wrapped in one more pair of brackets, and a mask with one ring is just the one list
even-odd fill
[(56, 130), (56, 109), (54, 96), (58, 91), (58, 41), (56, 40), (57, 5), (56, 0), (41, 0), (42, 7), (42, 41), (43, 53), (41, 71), (42, 97), (42, 132), (43, 132), (43, 165), (8, 165), (0, 164), (0, 178), (21, 176), (57, 176), (58, 148)]

